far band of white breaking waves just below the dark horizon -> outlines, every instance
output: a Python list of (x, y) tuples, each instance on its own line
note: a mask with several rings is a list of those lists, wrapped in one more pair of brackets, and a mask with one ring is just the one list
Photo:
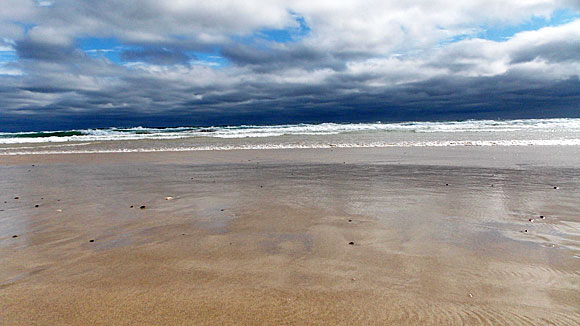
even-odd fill
[(465, 133), (465, 132), (580, 132), (580, 119), (528, 119), (528, 120), (468, 120), (447, 122), (401, 122), (356, 124), (296, 124), (276, 126), (230, 126), (230, 127), (180, 127), (180, 128), (128, 128), (73, 130), (79, 135), (54, 136), (55, 132), (0, 133), (0, 144), (62, 143), (123, 140), (170, 140), (192, 137), (204, 138), (267, 138), (284, 135), (335, 135), (353, 132), (417, 132), (417, 133)]

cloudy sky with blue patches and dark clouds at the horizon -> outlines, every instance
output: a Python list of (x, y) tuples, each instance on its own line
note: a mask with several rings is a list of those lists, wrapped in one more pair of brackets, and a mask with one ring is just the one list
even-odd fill
[(0, 0), (0, 131), (580, 117), (580, 0)]

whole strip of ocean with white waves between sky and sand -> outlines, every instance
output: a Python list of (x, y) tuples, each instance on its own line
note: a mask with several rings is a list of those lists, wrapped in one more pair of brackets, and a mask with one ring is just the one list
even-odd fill
[(0, 133), (0, 155), (440, 146), (580, 146), (580, 119), (136, 127)]

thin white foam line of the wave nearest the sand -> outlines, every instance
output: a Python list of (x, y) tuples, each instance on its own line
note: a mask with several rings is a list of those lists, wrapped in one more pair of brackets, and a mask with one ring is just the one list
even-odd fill
[(461, 141), (422, 141), (422, 142), (370, 142), (370, 143), (315, 143), (315, 144), (260, 144), (260, 145), (221, 145), (200, 147), (163, 147), (163, 148), (125, 148), (70, 151), (5, 151), (0, 155), (30, 154), (102, 154), (102, 153), (152, 153), (152, 152), (189, 152), (189, 151), (227, 151), (227, 150), (275, 150), (275, 149), (318, 149), (318, 148), (388, 148), (388, 147), (454, 147), (454, 146), (580, 146), (580, 139), (539, 139), (539, 140), (461, 140)]

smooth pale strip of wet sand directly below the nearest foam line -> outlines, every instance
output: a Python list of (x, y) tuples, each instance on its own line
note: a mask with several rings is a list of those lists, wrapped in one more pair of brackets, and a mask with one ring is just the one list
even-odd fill
[[(162, 163), (164, 158), (176, 163), (213, 164), (244, 162), (245, 156), (270, 163), (368, 163), (420, 164), (478, 167), (580, 166), (580, 146), (517, 147), (388, 147), (388, 148), (297, 148), (232, 149), (220, 151), (155, 151), (83, 154), (0, 155), (0, 164), (19, 165), (30, 162), (108, 164), (113, 162)], [(97, 160), (95, 160), (97, 158)], [(100, 159), (102, 158), (102, 159)]]

